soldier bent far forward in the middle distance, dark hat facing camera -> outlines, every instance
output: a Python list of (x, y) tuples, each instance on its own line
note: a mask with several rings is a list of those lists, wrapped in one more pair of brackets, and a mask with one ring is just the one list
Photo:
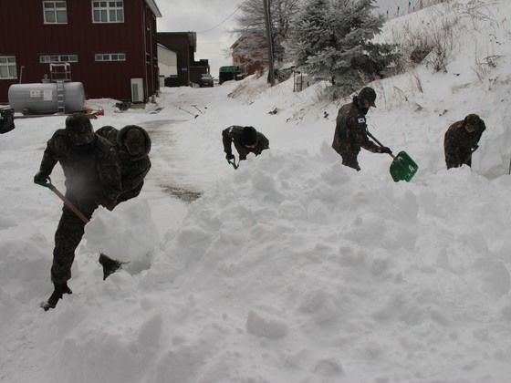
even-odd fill
[(269, 149), (269, 140), (254, 127), (230, 126), (222, 131), (222, 140), (227, 160), (235, 159), (231, 148), (232, 142), (235, 144), (240, 160), (246, 160), (248, 153), (255, 153), (258, 156), (263, 150)]

